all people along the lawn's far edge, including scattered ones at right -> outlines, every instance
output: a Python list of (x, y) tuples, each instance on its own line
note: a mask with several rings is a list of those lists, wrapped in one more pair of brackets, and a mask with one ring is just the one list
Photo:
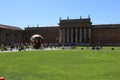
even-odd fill
[[(91, 47), (92, 50), (100, 50), (103, 49), (103, 47), (100, 44), (97, 45), (86, 45), (86, 47)], [(9, 43), (9, 44), (0, 44), (0, 51), (13, 51), (13, 50), (29, 50), (32, 49), (33, 47), (29, 43)], [(40, 49), (75, 49), (76, 45), (64, 45), (64, 44), (57, 44), (57, 43), (44, 43)], [(84, 47), (81, 47), (81, 50), (83, 50)], [(111, 50), (114, 50), (112, 47)]]

